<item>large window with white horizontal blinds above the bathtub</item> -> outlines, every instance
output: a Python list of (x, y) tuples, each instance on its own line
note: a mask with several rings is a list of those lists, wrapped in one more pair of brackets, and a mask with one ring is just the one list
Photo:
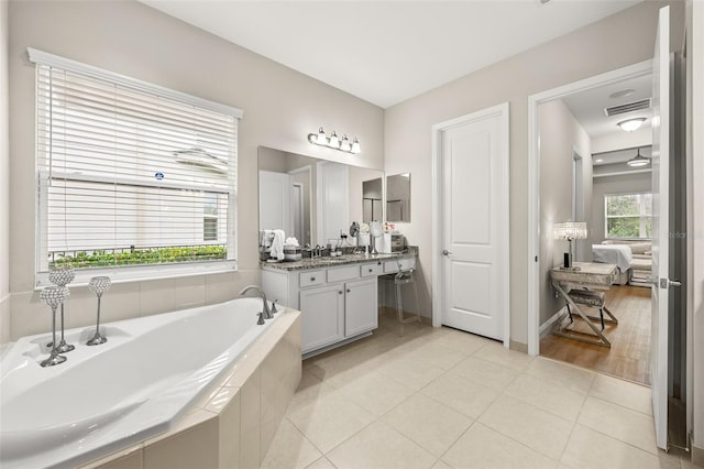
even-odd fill
[(36, 286), (235, 268), (242, 112), (30, 50), (36, 63)]

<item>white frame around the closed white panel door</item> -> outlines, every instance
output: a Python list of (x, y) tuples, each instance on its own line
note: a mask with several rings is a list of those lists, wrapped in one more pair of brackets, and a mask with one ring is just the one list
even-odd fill
[(486, 119), (492, 116), (499, 116), (501, 127), (504, 132), (499, 137), (502, 140), (502, 171), (497, 177), (501, 181), (506, 182), (504, 184), (504, 190), (502, 194), (502, 208), (499, 220), (499, 241), (497, 242), (498, 250), (503, 252), (502, 259), (498, 263), (498, 269), (502, 271), (502, 283), (504, 285), (503, 294), (504, 298), (501, 302), (503, 309), (504, 320), (504, 347), (508, 348), (510, 343), (510, 240), (509, 240), (509, 197), (510, 197), (510, 183), (509, 183), (509, 106), (508, 102), (501, 103), (491, 108), (486, 108), (476, 112), (471, 112), (454, 119), (447, 120), (444, 122), (436, 123), (431, 128), (432, 140), (432, 326), (442, 326), (442, 308), (444, 298), (442, 292), (444, 279), (442, 275), (442, 255), (440, 253), (442, 249), (442, 132), (457, 126), (465, 124), (472, 121)]

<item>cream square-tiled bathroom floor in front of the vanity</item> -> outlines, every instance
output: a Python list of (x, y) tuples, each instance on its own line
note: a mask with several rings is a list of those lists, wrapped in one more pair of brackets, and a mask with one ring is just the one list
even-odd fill
[(302, 371), (263, 468), (693, 468), (648, 388), (446, 327), (382, 315)]

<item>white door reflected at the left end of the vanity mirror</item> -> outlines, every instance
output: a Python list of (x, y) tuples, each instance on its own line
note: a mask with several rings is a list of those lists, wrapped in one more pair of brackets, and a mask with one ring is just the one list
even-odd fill
[(260, 229), (292, 232), (290, 177), (288, 174), (260, 171)]

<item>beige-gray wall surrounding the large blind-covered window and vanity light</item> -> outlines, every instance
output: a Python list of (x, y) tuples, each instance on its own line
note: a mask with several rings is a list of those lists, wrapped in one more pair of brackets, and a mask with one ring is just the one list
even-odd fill
[[(0, 4), (7, 8), (8, 2)], [(0, 336), (6, 340), (51, 326), (46, 307), (32, 290), (35, 67), (28, 61), (28, 46), (244, 110), (238, 142), (239, 271), (113, 285), (103, 297), (105, 320), (217, 303), (260, 282), (258, 145), (383, 170), (381, 108), (136, 1), (13, 1), (9, 24), (12, 320), (8, 335), (8, 312), (2, 313)], [(362, 153), (346, 155), (309, 144), (308, 133), (320, 126), (358, 135)], [(0, 258), (2, 270), (8, 269), (7, 259)], [(69, 327), (91, 324), (95, 296), (87, 288), (73, 288), (66, 313)]]

